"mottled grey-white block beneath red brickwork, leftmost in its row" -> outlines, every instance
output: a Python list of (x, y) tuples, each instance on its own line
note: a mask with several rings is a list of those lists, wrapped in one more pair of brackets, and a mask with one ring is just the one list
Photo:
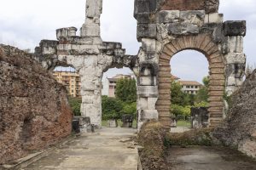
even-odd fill
[(179, 21), (180, 11), (179, 10), (162, 10), (158, 14), (158, 23), (174, 23)]

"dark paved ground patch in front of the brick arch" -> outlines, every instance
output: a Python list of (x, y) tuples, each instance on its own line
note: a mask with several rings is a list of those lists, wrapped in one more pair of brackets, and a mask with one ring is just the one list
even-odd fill
[(169, 154), (172, 170), (256, 170), (256, 161), (226, 148), (173, 147)]

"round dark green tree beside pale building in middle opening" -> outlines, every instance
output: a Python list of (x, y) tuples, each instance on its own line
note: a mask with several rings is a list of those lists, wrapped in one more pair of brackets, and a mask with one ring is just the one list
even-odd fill
[(135, 79), (121, 78), (116, 83), (116, 98), (124, 102), (137, 101), (137, 88)]

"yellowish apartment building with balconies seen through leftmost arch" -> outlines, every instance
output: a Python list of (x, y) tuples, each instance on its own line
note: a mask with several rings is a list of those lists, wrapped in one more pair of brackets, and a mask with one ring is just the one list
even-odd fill
[(81, 80), (79, 74), (73, 71), (54, 71), (53, 76), (57, 82), (63, 84), (68, 94), (74, 98), (81, 97)]

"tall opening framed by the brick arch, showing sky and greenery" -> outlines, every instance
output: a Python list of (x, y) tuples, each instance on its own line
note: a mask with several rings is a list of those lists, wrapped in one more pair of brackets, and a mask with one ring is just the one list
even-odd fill
[(209, 63), (204, 54), (184, 50), (171, 61), (172, 131), (207, 127)]

